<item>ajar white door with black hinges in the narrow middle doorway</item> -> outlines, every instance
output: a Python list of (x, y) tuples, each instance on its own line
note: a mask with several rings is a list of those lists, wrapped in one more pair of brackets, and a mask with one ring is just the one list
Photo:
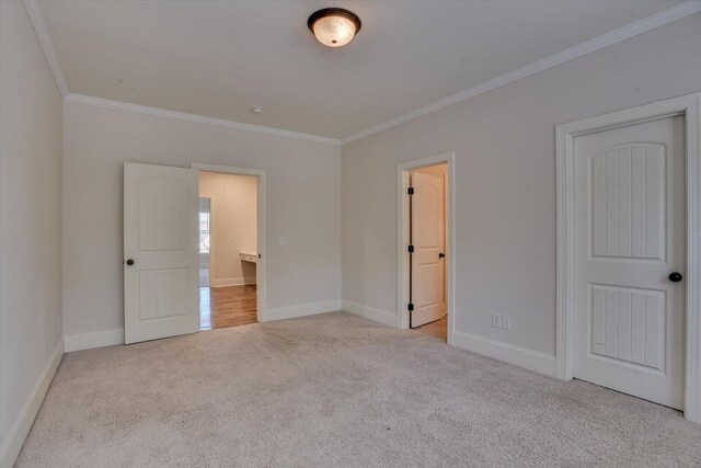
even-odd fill
[(446, 313), (445, 196), (441, 176), (414, 171), (411, 178), (411, 326), (415, 328)]

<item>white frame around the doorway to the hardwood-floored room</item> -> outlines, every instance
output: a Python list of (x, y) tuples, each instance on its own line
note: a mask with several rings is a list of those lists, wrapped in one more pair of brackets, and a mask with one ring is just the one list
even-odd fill
[[(196, 169), (198, 172), (218, 172), (221, 174), (234, 174), (234, 175), (252, 175), (258, 179), (258, 189), (257, 189), (257, 226), (256, 226), (256, 237), (257, 237), (257, 253), (258, 260), (255, 266), (255, 282), (256, 282), (256, 319), (258, 322), (266, 321), (266, 312), (267, 312), (267, 281), (266, 281), (266, 266), (267, 266), (267, 255), (266, 255), (266, 171), (264, 169), (250, 169), (250, 168), (238, 168), (232, 165), (218, 165), (218, 164), (204, 164), (199, 162), (193, 162), (191, 164), (192, 169)], [(216, 246), (215, 246), (216, 247)], [(209, 259), (209, 264), (211, 269), (211, 258)], [(211, 271), (209, 272), (211, 279)], [(197, 294), (199, 294), (199, 287), (197, 288)]]

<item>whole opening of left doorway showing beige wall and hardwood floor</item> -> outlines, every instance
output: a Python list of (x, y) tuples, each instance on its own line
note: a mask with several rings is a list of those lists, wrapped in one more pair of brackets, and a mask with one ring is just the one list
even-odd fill
[(257, 176), (199, 172), (200, 330), (257, 321)]

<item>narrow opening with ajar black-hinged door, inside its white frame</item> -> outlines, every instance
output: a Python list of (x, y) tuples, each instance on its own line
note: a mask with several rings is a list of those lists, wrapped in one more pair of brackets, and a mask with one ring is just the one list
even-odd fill
[(418, 168), (410, 173), (410, 328), (447, 341), (448, 164)]

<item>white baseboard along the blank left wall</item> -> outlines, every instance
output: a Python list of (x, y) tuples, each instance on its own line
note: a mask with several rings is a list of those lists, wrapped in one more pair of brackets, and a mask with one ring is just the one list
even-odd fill
[(10, 468), (14, 465), (14, 460), (20, 455), (20, 450), (22, 449), (22, 444), (24, 444), (24, 440), (32, 427), (32, 423), (34, 422), (34, 418), (36, 418), (36, 413), (39, 411), (39, 407), (42, 406), (42, 401), (44, 401), (44, 396), (46, 396), (46, 391), (48, 390), (48, 386), (51, 385), (51, 380), (56, 375), (56, 369), (64, 357), (64, 340), (61, 339), (58, 342), (58, 345), (54, 350), (51, 357), (49, 357), (46, 366), (42, 370), (36, 384), (34, 384), (34, 388), (30, 392), (30, 396), (24, 402), (22, 407), (22, 411), (18, 415), (18, 419), (10, 427), (10, 432), (8, 433), (4, 441), (2, 441), (2, 446), (0, 448), (0, 467), (1, 468)]

